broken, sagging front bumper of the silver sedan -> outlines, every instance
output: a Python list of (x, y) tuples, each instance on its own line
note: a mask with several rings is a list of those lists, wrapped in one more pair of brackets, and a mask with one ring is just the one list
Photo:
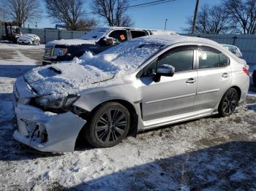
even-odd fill
[(18, 130), (13, 137), (42, 152), (69, 152), (86, 120), (72, 112), (56, 114), (37, 107), (17, 104), (14, 107)]

